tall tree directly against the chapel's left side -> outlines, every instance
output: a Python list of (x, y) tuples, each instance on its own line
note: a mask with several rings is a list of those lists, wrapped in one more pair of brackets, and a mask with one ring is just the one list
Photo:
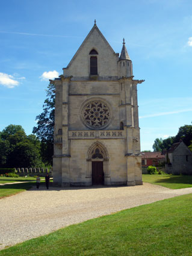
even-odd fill
[(54, 154), (54, 119), (55, 119), (55, 86), (50, 83), (48, 86), (48, 98), (43, 104), (43, 112), (36, 116), (37, 126), (34, 126), (33, 133), (41, 140), (41, 154), (44, 162), (52, 164)]

